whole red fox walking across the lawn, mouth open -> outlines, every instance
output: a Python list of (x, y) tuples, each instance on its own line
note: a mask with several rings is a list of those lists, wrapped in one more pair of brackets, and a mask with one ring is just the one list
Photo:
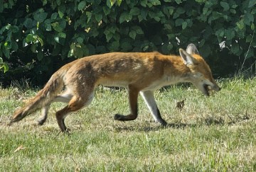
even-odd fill
[[(42, 109), (39, 125), (46, 122), (50, 104), (68, 103), (55, 113), (58, 126), (67, 132), (64, 119), (68, 113), (84, 108), (92, 102), (97, 86), (124, 86), (129, 93), (129, 115), (114, 115), (114, 120), (135, 120), (138, 115), (137, 98), (142, 95), (154, 120), (166, 125), (157, 108), (154, 91), (178, 82), (191, 82), (204, 95), (220, 91), (213, 79), (210, 67), (199, 55), (195, 45), (186, 51), (179, 49), (180, 56), (161, 55), (159, 52), (111, 52), (92, 55), (65, 64), (51, 77), (46, 86), (23, 108), (11, 117), (17, 122), (26, 115)], [(65, 91), (60, 93), (65, 86)], [(59, 94), (60, 93), (60, 94)]]

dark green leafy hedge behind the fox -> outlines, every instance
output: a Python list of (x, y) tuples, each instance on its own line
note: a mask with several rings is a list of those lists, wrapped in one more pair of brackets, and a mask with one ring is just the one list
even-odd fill
[(1, 72), (0, 79), (25, 73), (34, 79), (48, 77), (74, 58), (104, 52), (176, 53), (191, 42), (217, 74), (228, 74), (243, 59), (252, 62), (256, 53), (255, 0), (0, 0), (0, 4), (0, 67), (9, 70)]

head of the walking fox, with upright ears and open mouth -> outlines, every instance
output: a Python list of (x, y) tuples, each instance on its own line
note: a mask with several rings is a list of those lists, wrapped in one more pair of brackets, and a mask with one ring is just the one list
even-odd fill
[(183, 59), (183, 63), (190, 70), (188, 72), (188, 81), (194, 84), (206, 96), (210, 95), (210, 90), (220, 91), (220, 87), (213, 79), (210, 67), (203, 57), (199, 55), (195, 45), (190, 44), (186, 48), (186, 51), (180, 49), (179, 53)]

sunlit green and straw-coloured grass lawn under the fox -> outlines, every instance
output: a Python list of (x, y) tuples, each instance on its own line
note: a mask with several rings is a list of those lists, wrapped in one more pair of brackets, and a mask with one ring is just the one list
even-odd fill
[(99, 88), (89, 107), (66, 118), (69, 136), (58, 134), (54, 117), (62, 103), (41, 127), (40, 112), (8, 126), (36, 91), (0, 88), (0, 171), (256, 171), (256, 79), (218, 84), (210, 98), (193, 86), (156, 91), (167, 127), (153, 122), (142, 98), (137, 120), (114, 121), (129, 112), (127, 91)]

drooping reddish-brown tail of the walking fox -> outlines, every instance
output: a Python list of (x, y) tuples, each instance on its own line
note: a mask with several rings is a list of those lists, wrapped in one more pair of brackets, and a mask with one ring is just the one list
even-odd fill
[(63, 71), (56, 71), (53, 76), (50, 77), (50, 80), (44, 86), (37, 95), (32, 98), (31, 101), (28, 101), (23, 108), (16, 110), (14, 115), (11, 117), (11, 122), (17, 122), (22, 120), (23, 117), (29, 115), (30, 113), (35, 112), (36, 110), (43, 108), (45, 105), (48, 105), (53, 98), (62, 90), (63, 88)]

